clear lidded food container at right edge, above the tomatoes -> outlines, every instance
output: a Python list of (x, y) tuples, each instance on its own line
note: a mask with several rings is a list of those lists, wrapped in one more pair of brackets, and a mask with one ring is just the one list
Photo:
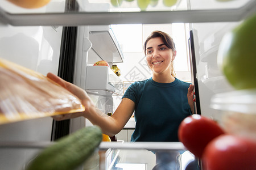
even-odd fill
[(211, 107), (221, 111), (220, 124), (227, 133), (256, 141), (256, 89), (216, 94)]

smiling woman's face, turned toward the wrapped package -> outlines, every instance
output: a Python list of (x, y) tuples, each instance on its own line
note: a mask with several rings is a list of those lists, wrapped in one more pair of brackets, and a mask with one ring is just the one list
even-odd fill
[(171, 62), (176, 56), (176, 50), (167, 48), (161, 37), (150, 39), (146, 45), (147, 65), (153, 73), (170, 74)]

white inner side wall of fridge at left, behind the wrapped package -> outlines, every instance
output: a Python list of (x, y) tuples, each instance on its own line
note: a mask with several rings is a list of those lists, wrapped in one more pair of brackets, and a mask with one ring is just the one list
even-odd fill
[[(0, 57), (46, 75), (57, 74), (62, 27), (0, 27)], [(3, 124), (0, 141), (51, 141), (52, 118)], [(23, 169), (35, 150), (1, 149), (0, 169)]]

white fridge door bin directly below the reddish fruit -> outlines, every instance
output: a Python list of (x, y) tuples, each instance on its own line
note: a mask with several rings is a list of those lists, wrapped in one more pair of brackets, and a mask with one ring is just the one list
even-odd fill
[(87, 66), (85, 84), (90, 94), (122, 95), (122, 80), (108, 66)]

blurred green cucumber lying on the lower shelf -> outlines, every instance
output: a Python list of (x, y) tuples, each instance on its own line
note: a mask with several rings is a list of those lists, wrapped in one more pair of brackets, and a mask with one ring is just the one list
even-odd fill
[(28, 165), (27, 170), (71, 170), (79, 167), (100, 145), (102, 131), (88, 126), (56, 141)]

